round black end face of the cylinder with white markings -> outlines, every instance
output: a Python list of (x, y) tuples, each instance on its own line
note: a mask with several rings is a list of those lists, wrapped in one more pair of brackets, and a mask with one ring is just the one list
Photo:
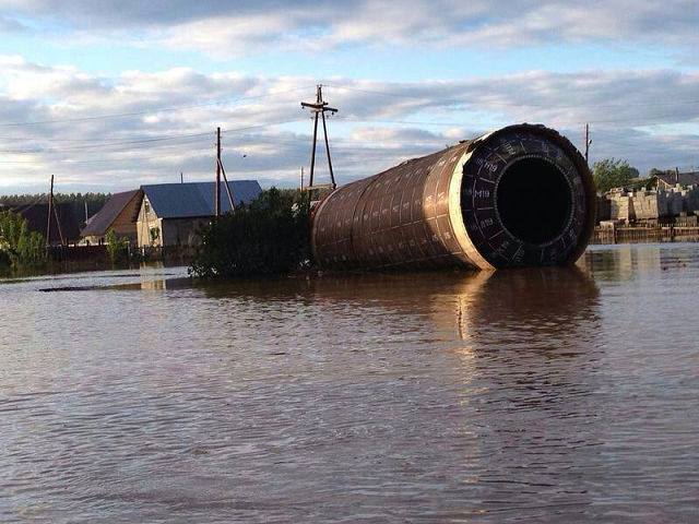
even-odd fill
[(569, 260), (587, 218), (582, 176), (544, 134), (510, 130), (465, 164), (461, 209), (476, 249), (496, 267)]

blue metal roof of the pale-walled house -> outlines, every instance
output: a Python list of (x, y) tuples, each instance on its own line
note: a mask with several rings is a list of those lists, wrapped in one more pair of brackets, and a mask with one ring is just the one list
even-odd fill
[[(161, 218), (213, 216), (214, 187), (216, 182), (153, 183), (141, 186), (151, 207)], [(257, 180), (230, 180), (228, 182), (235, 204), (250, 203), (262, 188)], [(230, 211), (225, 182), (221, 182), (221, 212)]]

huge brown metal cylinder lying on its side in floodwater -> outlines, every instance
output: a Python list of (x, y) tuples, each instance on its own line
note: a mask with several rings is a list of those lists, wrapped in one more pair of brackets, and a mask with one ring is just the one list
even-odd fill
[(523, 123), (336, 189), (316, 210), (312, 250), (328, 269), (566, 264), (594, 215), (578, 150)]

